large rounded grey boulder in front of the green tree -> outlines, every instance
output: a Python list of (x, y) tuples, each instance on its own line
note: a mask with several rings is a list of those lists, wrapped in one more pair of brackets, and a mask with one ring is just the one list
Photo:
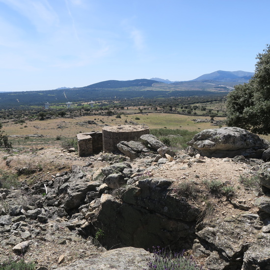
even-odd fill
[(269, 143), (258, 135), (236, 127), (208, 129), (196, 134), (187, 143), (189, 151), (202, 156), (216, 158), (262, 158), (263, 152), (269, 148)]

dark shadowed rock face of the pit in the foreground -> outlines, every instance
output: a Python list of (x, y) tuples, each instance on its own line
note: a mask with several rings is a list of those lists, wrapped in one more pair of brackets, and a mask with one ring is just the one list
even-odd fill
[(92, 221), (104, 231), (102, 243), (108, 248), (188, 247), (201, 211), (182, 197), (170, 194), (172, 182), (148, 178), (116, 189), (113, 195), (102, 196), (101, 207)]

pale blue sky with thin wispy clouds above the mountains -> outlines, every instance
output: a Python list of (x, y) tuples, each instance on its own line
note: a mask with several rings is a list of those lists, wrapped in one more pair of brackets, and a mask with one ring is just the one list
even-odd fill
[(0, 91), (253, 72), (269, 0), (0, 0)]

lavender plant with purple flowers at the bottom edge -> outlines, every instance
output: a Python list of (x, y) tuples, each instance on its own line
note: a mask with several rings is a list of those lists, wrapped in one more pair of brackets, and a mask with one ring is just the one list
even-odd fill
[[(154, 252), (151, 254), (148, 262), (148, 270), (201, 270), (202, 267), (198, 266), (192, 256), (184, 256), (182, 252), (171, 252), (164, 248), (154, 247)], [(144, 269), (146, 270), (146, 269)]]

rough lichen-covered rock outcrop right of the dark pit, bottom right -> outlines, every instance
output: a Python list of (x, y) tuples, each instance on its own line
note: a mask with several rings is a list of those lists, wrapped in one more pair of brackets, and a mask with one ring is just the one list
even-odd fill
[(259, 216), (249, 213), (200, 223), (196, 234), (201, 245), (215, 251), (206, 261), (207, 269), (241, 269), (244, 252), (254, 244), (262, 226)]

